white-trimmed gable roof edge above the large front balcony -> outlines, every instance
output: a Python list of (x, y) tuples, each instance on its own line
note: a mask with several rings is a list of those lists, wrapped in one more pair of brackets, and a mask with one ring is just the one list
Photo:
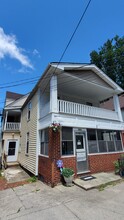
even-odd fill
[[(102, 70), (100, 70), (96, 65), (94, 64), (84, 64), (84, 63), (65, 63), (65, 62), (51, 62), (48, 64), (46, 70), (41, 75), (39, 81), (31, 91), (28, 99), (24, 103), (23, 107), (29, 102), (29, 100), (32, 98), (34, 93), (38, 90), (38, 88), (42, 85), (42, 88), (45, 88), (46, 85), (48, 85), (50, 78), (53, 74), (59, 75), (63, 74), (68, 71), (79, 71), (79, 70), (86, 70), (86, 71), (93, 71), (106, 85), (108, 85), (111, 90), (114, 91), (115, 94), (120, 94), (123, 92), (123, 89), (118, 86), (112, 79), (110, 79)], [(90, 82), (90, 81), (89, 81)], [(94, 83), (94, 82), (90, 82)], [(94, 83), (95, 85), (95, 83)], [(112, 95), (111, 95), (112, 96)]]

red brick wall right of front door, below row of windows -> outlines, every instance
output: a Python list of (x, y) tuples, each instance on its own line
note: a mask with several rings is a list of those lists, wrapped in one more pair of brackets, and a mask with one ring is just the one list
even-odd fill
[(88, 155), (89, 170), (91, 173), (113, 171), (113, 162), (117, 160), (121, 154), (122, 153)]

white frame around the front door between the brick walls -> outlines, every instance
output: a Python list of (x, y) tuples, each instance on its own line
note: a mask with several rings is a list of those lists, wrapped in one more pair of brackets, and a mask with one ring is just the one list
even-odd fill
[[(86, 162), (87, 162), (87, 171), (89, 170), (89, 163), (88, 163), (88, 142), (87, 142), (87, 130), (84, 128), (73, 128), (73, 143), (74, 143), (74, 155), (76, 157), (76, 167), (77, 167), (77, 154), (76, 154), (76, 133), (77, 135), (82, 135), (84, 138), (85, 144), (85, 152), (86, 152)], [(85, 173), (86, 171), (78, 172), (77, 174)]]

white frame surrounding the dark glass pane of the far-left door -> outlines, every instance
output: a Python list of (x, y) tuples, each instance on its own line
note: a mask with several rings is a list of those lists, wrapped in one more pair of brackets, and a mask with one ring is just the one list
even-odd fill
[[(15, 155), (13, 155), (13, 156), (8, 155), (9, 143), (10, 142), (15, 142), (16, 143), (16, 145), (15, 145)], [(17, 140), (17, 139), (8, 139), (7, 140), (7, 162), (16, 162), (17, 161), (17, 159), (18, 159), (18, 150), (19, 150), (19, 140)]]

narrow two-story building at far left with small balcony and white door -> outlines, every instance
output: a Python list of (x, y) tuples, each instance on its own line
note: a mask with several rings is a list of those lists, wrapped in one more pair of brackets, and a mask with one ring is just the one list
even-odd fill
[(2, 155), (11, 164), (18, 161), (21, 130), (21, 107), (28, 95), (6, 92), (2, 115)]

